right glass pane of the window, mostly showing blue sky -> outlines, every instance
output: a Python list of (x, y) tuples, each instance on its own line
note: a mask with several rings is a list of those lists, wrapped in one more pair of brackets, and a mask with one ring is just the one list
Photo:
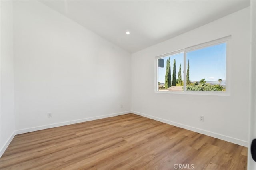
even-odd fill
[(226, 43), (187, 52), (186, 64), (186, 90), (226, 90)]

